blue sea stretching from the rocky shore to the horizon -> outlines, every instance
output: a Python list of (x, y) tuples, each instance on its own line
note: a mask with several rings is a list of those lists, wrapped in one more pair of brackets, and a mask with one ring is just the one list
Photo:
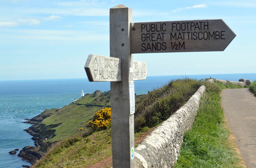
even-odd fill
[[(244, 74), (203, 74), (203, 75), (169, 75), (147, 76), (146, 80), (135, 81), (135, 93), (147, 94), (173, 79), (215, 78), (238, 81), (240, 78), (256, 80), (256, 73)], [(45, 79), (0, 81), (0, 168), (21, 168), (30, 163), (17, 154), (8, 152), (24, 146), (34, 146), (34, 140), (24, 129), (31, 124), (23, 123), (45, 109), (61, 108), (81, 97), (81, 91), (93, 93), (110, 90), (110, 82), (89, 82), (88, 79)]]

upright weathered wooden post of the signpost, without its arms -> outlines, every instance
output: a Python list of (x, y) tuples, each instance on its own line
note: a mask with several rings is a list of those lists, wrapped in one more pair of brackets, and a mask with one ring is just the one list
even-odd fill
[(135, 109), (130, 107), (131, 103), (135, 104), (135, 100), (130, 102), (130, 89), (134, 89), (133, 55), (130, 53), (132, 20), (132, 9), (124, 5), (110, 9), (110, 57), (122, 60), (122, 81), (110, 83), (113, 168), (134, 167)]

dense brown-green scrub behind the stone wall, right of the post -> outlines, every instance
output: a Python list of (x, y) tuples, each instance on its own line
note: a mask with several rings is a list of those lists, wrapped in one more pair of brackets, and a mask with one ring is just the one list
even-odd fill
[(135, 130), (153, 127), (166, 120), (178, 110), (202, 85), (208, 85), (194, 79), (172, 80), (160, 89), (155, 89), (136, 102)]

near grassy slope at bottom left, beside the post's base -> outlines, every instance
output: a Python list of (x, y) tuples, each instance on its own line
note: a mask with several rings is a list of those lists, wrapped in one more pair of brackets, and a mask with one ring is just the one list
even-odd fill
[(86, 138), (76, 136), (57, 142), (32, 167), (84, 168), (111, 155), (111, 128), (109, 128)]

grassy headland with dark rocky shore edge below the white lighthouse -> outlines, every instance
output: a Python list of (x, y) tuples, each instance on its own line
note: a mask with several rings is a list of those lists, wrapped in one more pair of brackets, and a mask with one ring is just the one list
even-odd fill
[(75, 136), (77, 128), (84, 127), (95, 112), (105, 106), (110, 107), (110, 91), (102, 93), (96, 90), (63, 108), (45, 109), (43, 113), (24, 122), (34, 124), (24, 130), (33, 136), (31, 139), (35, 140), (35, 146), (25, 146), (18, 156), (35, 163), (53, 143)]

